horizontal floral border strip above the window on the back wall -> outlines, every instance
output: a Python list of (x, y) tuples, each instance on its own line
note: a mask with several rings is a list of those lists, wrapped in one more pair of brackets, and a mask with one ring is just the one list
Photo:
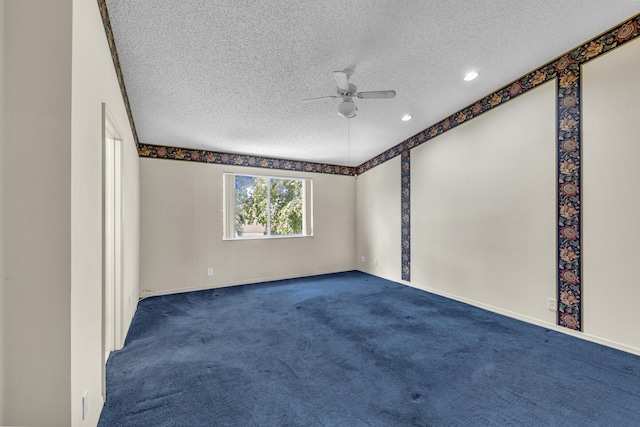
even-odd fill
[(354, 167), (329, 165), (326, 163), (302, 162), (295, 160), (281, 160), (270, 157), (248, 156), (244, 154), (218, 153), (207, 150), (193, 150), (179, 147), (165, 147), (158, 145), (138, 145), (138, 155), (152, 159), (184, 160), (220, 165), (248, 166), (255, 168), (291, 170), (298, 172), (325, 173), (332, 175), (353, 176)]

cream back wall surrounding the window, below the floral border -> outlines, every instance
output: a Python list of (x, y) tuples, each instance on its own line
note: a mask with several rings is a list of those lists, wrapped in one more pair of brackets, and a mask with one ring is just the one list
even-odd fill
[[(313, 237), (222, 240), (222, 174), (313, 179)], [(140, 289), (155, 294), (355, 267), (353, 177), (140, 159)], [(214, 275), (207, 277), (207, 268)]]

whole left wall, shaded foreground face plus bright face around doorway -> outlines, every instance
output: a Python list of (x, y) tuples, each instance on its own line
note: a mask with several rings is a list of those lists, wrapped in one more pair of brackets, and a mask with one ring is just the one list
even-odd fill
[[(3, 425), (97, 424), (102, 103), (121, 125), (125, 326), (138, 293), (139, 172), (97, 2), (3, 2)], [(82, 421), (82, 394), (89, 412)]]

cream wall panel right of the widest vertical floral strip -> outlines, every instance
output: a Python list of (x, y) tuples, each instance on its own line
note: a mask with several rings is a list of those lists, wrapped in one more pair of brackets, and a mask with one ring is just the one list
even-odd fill
[(640, 41), (582, 67), (586, 334), (640, 354)]

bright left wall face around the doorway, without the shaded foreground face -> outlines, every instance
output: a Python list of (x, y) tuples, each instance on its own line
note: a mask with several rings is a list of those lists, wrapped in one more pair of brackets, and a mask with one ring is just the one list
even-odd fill
[[(123, 330), (138, 300), (139, 163), (100, 11), (73, 1), (71, 108), (71, 425), (92, 426), (102, 409), (102, 103), (122, 136)], [(82, 421), (82, 395), (89, 410)]]

